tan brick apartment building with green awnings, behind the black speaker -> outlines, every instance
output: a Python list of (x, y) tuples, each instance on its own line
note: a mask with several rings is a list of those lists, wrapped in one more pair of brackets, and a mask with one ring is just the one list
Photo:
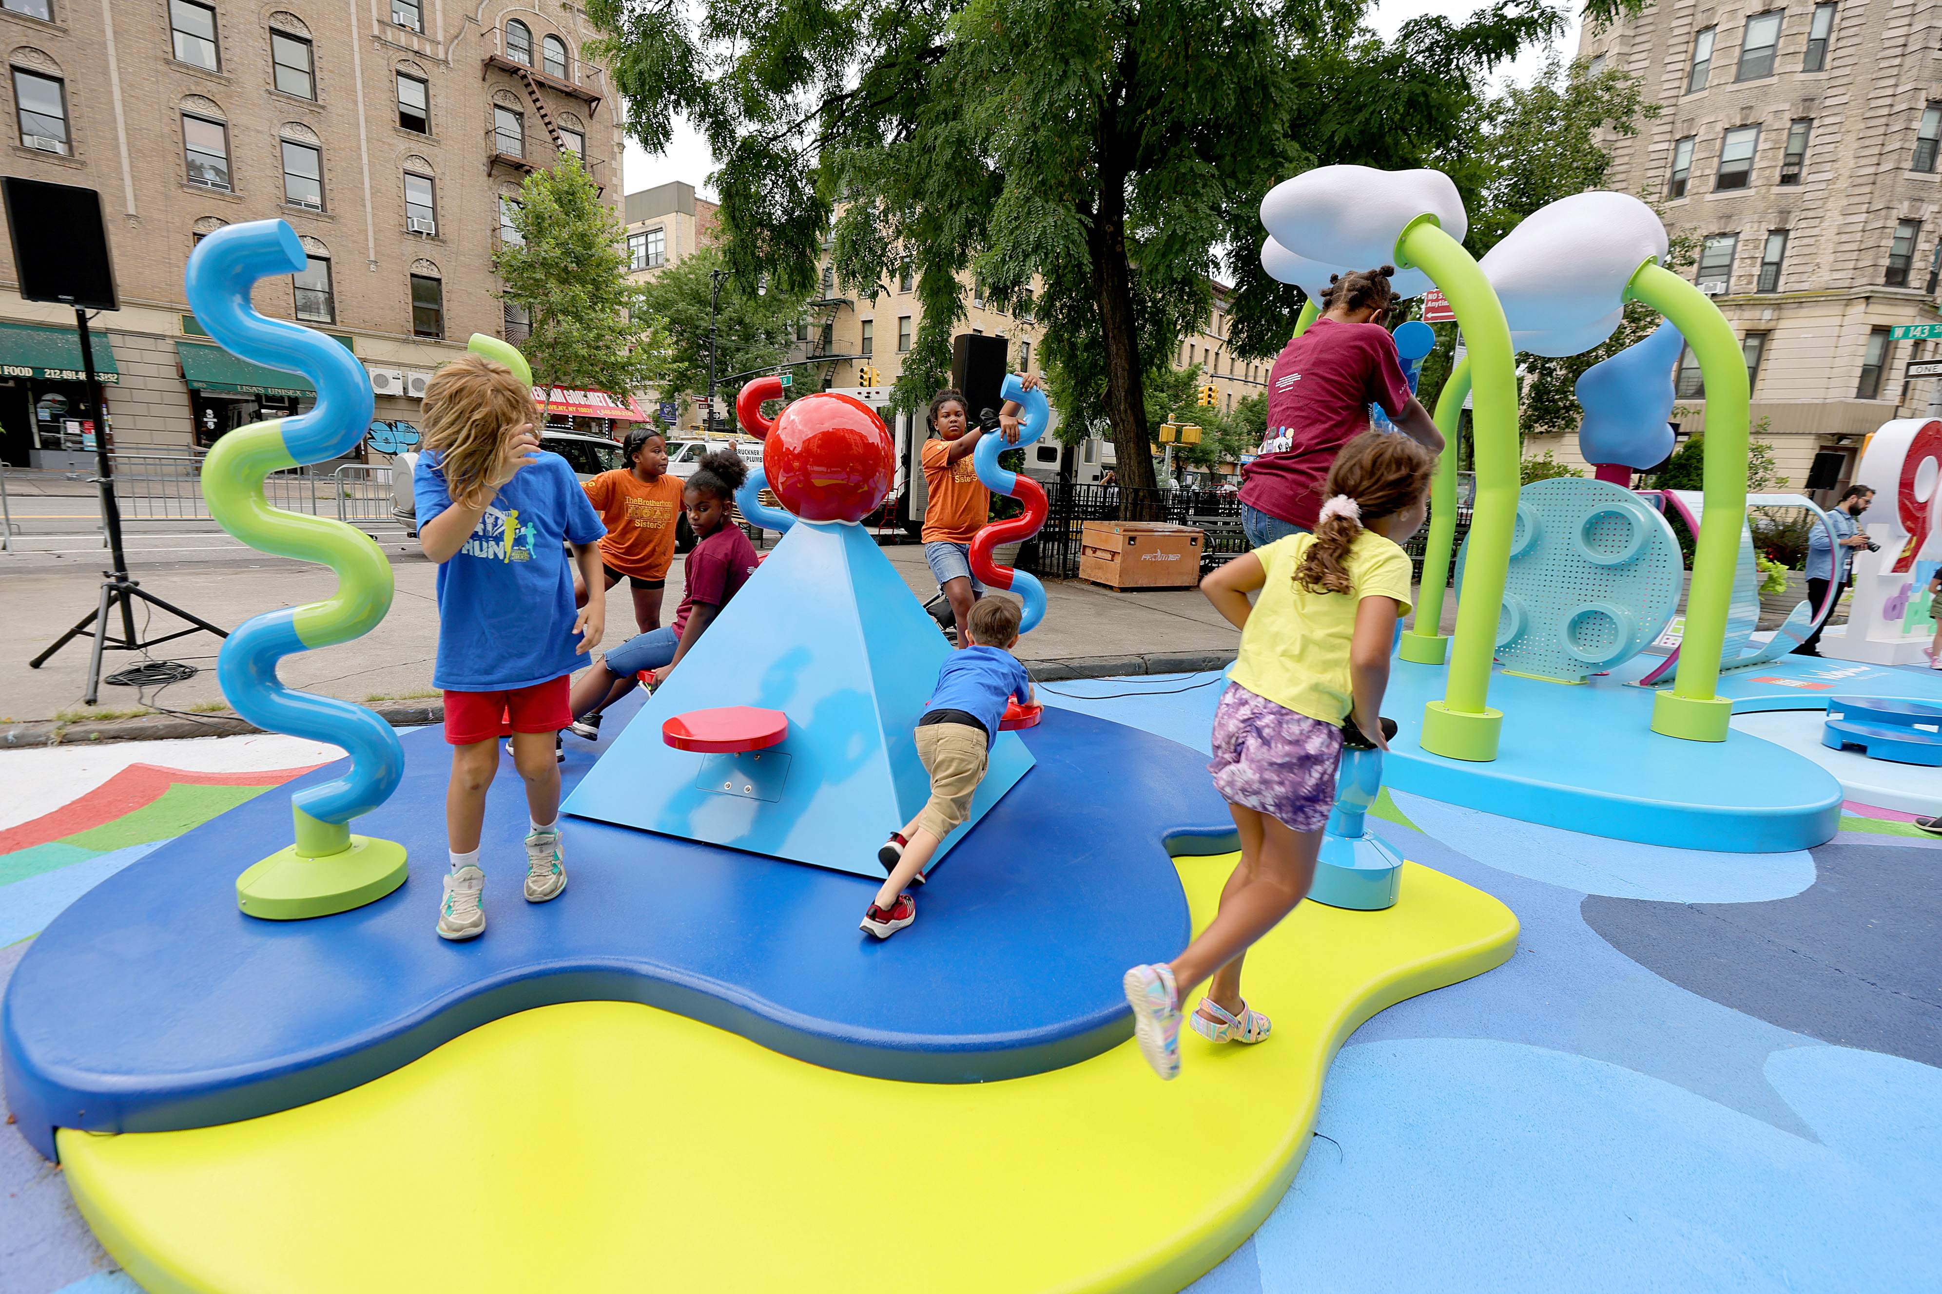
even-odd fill
[[(301, 275), (256, 308), (338, 338), (377, 417), (474, 332), (520, 336), (491, 272), (503, 202), (561, 149), (619, 204), (594, 27), (559, 0), (0, 0), (10, 175), (101, 194), (122, 308), (95, 320), (122, 452), (186, 454), (309, 405), (309, 384), (210, 345), (183, 297), (198, 237), (280, 217)], [(68, 466), (85, 400), (72, 312), (25, 303), (0, 241), (0, 456)], [(105, 343), (103, 343), (105, 338)]]

